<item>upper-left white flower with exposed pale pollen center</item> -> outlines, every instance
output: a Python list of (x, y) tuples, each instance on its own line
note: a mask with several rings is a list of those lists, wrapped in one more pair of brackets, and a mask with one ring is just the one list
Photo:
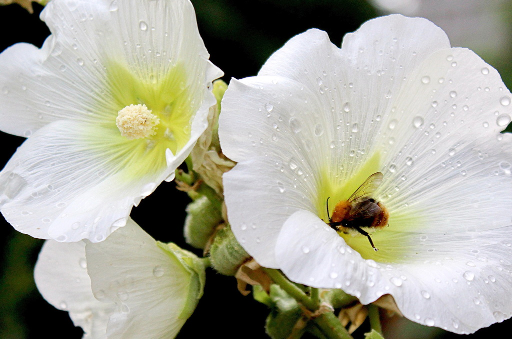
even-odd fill
[(0, 173), (0, 210), (33, 237), (98, 242), (174, 178), (222, 72), (187, 0), (54, 0), (41, 18), (41, 49), (0, 55), (0, 128), (30, 137)]

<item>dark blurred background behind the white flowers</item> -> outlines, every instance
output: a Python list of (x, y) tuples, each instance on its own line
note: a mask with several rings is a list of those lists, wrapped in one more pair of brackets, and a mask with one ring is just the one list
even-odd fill
[[(225, 72), (226, 82), (231, 77), (257, 74), (270, 54), (309, 28), (327, 31), (332, 42), (339, 46), (345, 33), (356, 30), (362, 22), (383, 14), (402, 13), (429, 18), (446, 31), (452, 46), (472, 49), (500, 72), (508, 88), (512, 84), (510, 1), (193, 0), (192, 3), (210, 59)], [(0, 7), (0, 51), (22, 41), (41, 46), (49, 34), (38, 17), (41, 9), (35, 4), (34, 13), (30, 14), (17, 5)], [(3, 166), (24, 139), (4, 133), (0, 138)], [(156, 239), (174, 241), (200, 254), (184, 242), (182, 235), (188, 201), (183, 192), (174, 189), (174, 183), (163, 183), (142, 200), (132, 217)], [(169, 204), (173, 205), (172, 217), (165, 214)], [(3, 218), (0, 223), (0, 338), (80, 338), (82, 331), (73, 326), (68, 313), (47, 304), (35, 288), (32, 272), (42, 240), (14, 232)], [(204, 297), (178, 338), (209, 333), (227, 339), (264, 338), (267, 314), (266, 306), (252, 300), (250, 295), (240, 295), (233, 278), (209, 270)], [(503, 331), (509, 333), (511, 325), (512, 321), (505, 321), (464, 337), (487, 338)], [(385, 328), (387, 339), (461, 337), (397, 317), (390, 319)], [(355, 336), (362, 337), (368, 329), (369, 325), (364, 324)]]

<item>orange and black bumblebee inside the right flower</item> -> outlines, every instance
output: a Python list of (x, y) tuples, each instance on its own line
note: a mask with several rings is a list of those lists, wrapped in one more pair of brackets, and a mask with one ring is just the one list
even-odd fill
[(347, 200), (339, 201), (332, 215), (329, 214), (329, 198), (327, 198), (327, 224), (335, 231), (345, 234), (356, 231), (368, 237), (375, 251), (379, 249), (373, 244), (371, 234), (361, 228), (381, 229), (388, 224), (389, 213), (381, 202), (370, 195), (382, 182), (382, 173), (377, 172), (368, 177), (364, 183)]

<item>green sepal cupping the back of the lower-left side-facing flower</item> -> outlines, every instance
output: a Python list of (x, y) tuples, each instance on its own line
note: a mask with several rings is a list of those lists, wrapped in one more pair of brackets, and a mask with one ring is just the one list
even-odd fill
[(206, 263), (204, 259), (198, 258), (194, 253), (183, 250), (178, 245), (169, 242), (157, 241), (157, 245), (166, 251), (170, 257), (176, 259), (182, 267), (190, 273), (187, 284), (188, 290), (184, 291), (187, 298), (178, 318), (188, 319), (196, 309), (199, 299), (203, 296), (204, 284), (206, 281)]

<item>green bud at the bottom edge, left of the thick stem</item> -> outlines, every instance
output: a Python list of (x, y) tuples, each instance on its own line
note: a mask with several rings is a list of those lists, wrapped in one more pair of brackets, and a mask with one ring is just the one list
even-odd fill
[(301, 307), (279, 285), (270, 286), (270, 299), (273, 306), (265, 322), (265, 331), (272, 339), (286, 339), (302, 317)]

